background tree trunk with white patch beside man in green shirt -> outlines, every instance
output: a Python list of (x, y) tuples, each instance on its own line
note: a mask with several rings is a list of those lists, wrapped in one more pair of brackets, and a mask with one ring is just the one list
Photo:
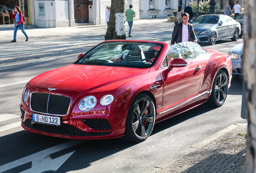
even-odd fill
[(124, 32), (125, 0), (111, 0), (111, 10), (105, 40), (126, 39)]

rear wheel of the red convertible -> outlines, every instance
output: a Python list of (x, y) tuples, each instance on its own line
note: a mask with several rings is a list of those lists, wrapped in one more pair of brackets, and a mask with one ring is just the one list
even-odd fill
[(228, 84), (227, 74), (223, 70), (220, 70), (213, 81), (212, 93), (208, 101), (209, 105), (213, 107), (221, 107), (225, 103), (227, 99)]

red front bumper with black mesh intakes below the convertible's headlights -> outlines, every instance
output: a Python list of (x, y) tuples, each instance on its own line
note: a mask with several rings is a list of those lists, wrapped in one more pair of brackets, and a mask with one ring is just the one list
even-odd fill
[[(107, 120), (89, 116), (88, 119), (70, 119), (61, 121), (61, 126), (35, 123), (29, 113), (21, 109), (21, 126), (33, 133), (69, 139), (111, 139), (124, 136), (123, 119)], [(88, 121), (87, 121), (88, 120)]]

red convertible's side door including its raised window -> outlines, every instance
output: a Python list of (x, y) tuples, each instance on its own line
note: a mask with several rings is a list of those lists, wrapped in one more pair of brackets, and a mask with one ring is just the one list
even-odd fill
[(188, 64), (185, 67), (160, 69), (163, 78), (163, 114), (193, 101), (198, 95), (202, 78), (201, 63), (194, 53), (194, 42), (182, 42), (170, 46), (167, 59), (168, 64), (174, 58), (184, 58)]

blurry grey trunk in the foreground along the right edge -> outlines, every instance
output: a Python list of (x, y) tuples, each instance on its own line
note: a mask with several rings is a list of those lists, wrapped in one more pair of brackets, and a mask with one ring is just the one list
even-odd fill
[(256, 0), (245, 1), (244, 80), (248, 118), (246, 173), (256, 173)]

